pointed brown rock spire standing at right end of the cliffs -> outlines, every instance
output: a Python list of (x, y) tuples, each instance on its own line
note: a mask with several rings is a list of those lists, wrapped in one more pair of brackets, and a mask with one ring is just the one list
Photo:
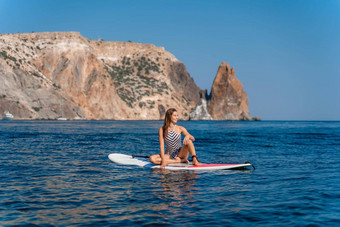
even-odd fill
[(214, 120), (251, 120), (248, 97), (234, 68), (222, 62), (211, 88), (208, 112)]

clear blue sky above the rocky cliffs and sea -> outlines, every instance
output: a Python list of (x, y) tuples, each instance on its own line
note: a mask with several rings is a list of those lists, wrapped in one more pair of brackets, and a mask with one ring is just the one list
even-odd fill
[(340, 120), (340, 0), (0, 0), (0, 33), (153, 43), (210, 90), (235, 68), (252, 116)]

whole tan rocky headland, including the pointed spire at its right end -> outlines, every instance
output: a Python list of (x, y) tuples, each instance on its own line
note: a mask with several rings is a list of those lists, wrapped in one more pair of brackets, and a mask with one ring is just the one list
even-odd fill
[(187, 120), (207, 103), (202, 111), (210, 118), (202, 119), (249, 117), (243, 90), (237, 91), (242, 85), (228, 84), (236, 80), (232, 69), (218, 73), (206, 103), (185, 65), (163, 47), (95, 41), (77, 32), (1, 34), (0, 78), (0, 111), (16, 119), (152, 120), (175, 107)]

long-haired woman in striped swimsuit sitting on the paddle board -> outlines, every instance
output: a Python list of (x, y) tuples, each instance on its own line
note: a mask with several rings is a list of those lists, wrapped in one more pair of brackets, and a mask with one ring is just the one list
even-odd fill
[[(161, 168), (164, 168), (171, 163), (188, 163), (189, 153), (192, 156), (192, 163), (194, 165), (199, 165), (193, 144), (195, 138), (190, 135), (184, 127), (175, 125), (177, 120), (177, 110), (175, 108), (170, 108), (165, 113), (164, 125), (159, 129), (160, 154), (152, 155), (150, 161), (154, 164), (161, 165)], [(181, 144), (182, 133), (185, 136), (183, 139), (183, 146)], [(166, 145), (165, 153), (164, 142)]]

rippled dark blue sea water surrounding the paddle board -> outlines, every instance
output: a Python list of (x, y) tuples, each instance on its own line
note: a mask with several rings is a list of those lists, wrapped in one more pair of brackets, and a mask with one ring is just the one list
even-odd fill
[(205, 163), (160, 171), (110, 153), (159, 152), (160, 121), (0, 122), (0, 226), (340, 225), (340, 122), (179, 122)]

